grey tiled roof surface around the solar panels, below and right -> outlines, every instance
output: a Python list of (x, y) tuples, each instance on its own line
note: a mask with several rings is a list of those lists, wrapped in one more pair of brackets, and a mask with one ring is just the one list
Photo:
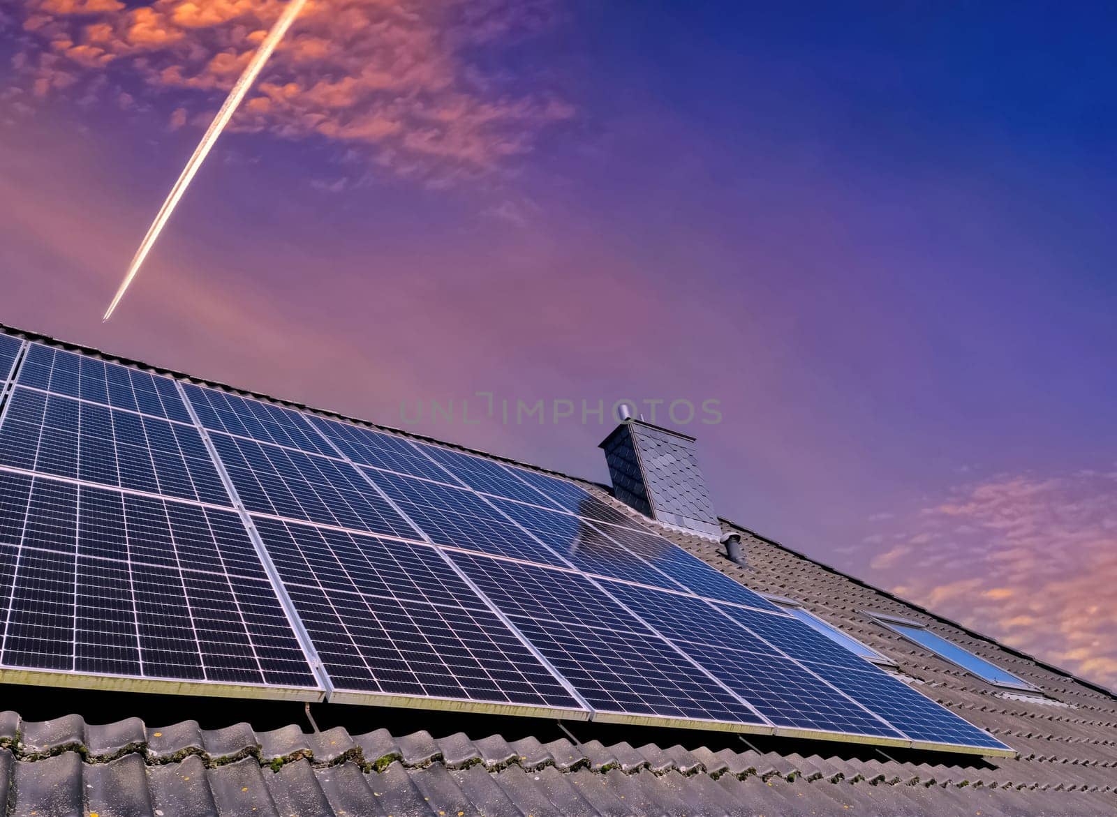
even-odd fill
[[(601, 486), (579, 482), (634, 513)], [(542, 722), (536, 737), (505, 738), (484, 720), (458, 731), (450, 725), (457, 722), (424, 712), (408, 713), (419, 731), (400, 729), (398, 718), (385, 715), (390, 729), (361, 734), (344, 728), (305, 733), (294, 723), (256, 731), (229, 722), (206, 731), (198, 722), (211, 721), (209, 712), (181, 708), (170, 710), (181, 720), (170, 725), (139, 718), (93, 725), (87, 719), (98, 712), (88, 709), (44, 722), (8, 712), (0, 714), (0, 810), (101, 817), (1117, 810), (1113, 694), (745, 528), (725, 520), (723, 528), (742, 534), (747, 568), (724, 558), (707, 538), (656, 529), (723, 573), (802, 603), (896, 660), (920, 691), (1009, 743), (1019, 758), (885, 753), (753, 737), (746, 743), (734, 736), (666, 729), (639, 732), (650, 737), (647, 742), (605, 725), (575, 727), (582, 736), (575, 742), (576, 734), (553, 739), (553, 729)], [(1047, 699), (1005, 694), (875, 624), (866, 611), (926, 624)]]

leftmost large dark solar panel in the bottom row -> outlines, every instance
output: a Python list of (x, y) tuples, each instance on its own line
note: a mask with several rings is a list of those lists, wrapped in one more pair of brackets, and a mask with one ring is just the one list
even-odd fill
[(231, 512), (9, 473), (0, 551), (2, 666), (317, 686)]

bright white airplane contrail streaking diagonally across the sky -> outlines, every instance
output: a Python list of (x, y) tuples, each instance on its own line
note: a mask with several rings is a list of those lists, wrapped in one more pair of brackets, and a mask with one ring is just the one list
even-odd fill
[(232, 90), (229, 92), (229, 96), (226, 97), (225, 103), (221, 105), (221, 109), (217, 112), (217, 116), (213, 117), (213, 122), (210, 123), (209, 128), (206, 131), (206, 135), (202, 136), (202, 141), (198, 143), (198, 147), (194, 148), (194, 154), (187, 162), (187, 166), (182, 171), (182, 175), (179, 176), (179, 181), (174, 183), (171, 189), (170, 195), (166, 196), (166, 201), (163, 202), (163, 206), (160, 208), (159, 214), (155, 217), (155, 221), (152, 222), (151, 227), (147, 229), (147, 234), (144, 236), (143, 241), (140, 242), (140, 249), (136, 250), (135, 257), (132, 259), (132, 265), (128, 267), (127, 273), (124, 276), (124, 280), (121, 281), (120, 288), (116, 290), (116, 295), (113, 297), (113, 302), (108, 305), (108, 309), (105, 311), (105, 317), (103, 321), (108, 320), (113, 317), (113, 310), (116, 309), (117, 305), (121, 302), (121, 298), (124, 297), (124, 292), (127, 291), (128, 286), (132, 280), (136, 277), (140, 271), (140, 267), (143, 265), (144, 259), (147, 258), (147, 253), (151, 252), (152, 246), (159, 238), (159, 234), (163, 231), (166, 225), (168, 219), (171, 218), (171, 213), (174, 212), (175, 205), (179, 203), (179, 199), (182, 194), (187, 192), (187, 188), (190, 185), (190, 181), (194, 177), (198, 169), (201, 166), (202, 162), (206, 161), (206, 156), (209, 154), (210, 148), (213, 147), (213, 143), (217, 142), (217, 137), (221, 135), (225, 126), (229, 124), (229, 119), (240, 107), (241, 100), (248, 93), (248, 89), (256, 81), (257, 75), (264, 68), (265, 63), (271, 56), (271, 52), (279, 45), (279, 40), (284, 38), (287, 33), (287, 29), (298, 17), (298, 13), (306, 6), (306, 0), (290, 0), (287, 7), (284, 9), (283, 15), (276, 20), (276, 25), (271, 27), (268, 31), (268, 36), (264, 38), (264, 42), (260, 44), (259, 50), (252, 56), (252, 60), (245, 68), (245, 73), (240, 75), (240, 79), (237, 84), (232, 86)]

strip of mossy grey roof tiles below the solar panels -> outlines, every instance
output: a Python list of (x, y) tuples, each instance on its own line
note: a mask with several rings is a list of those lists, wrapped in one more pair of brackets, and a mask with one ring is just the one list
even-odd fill
[(1111, 815), (1115, 804), (1104, 769), (1075, 777), (1029, 761), (978, 768), (383, 729), (203, 731), (137, 719), (96, 727), (77, 715), (22, 723), (10, 712), (0, 714), (0, 810), (42, 817), (1085, 816)]

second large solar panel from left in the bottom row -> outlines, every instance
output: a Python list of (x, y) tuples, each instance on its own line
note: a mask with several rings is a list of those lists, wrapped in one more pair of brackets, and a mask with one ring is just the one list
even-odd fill
[(256, 525), (336, 689), (580, 708), (433, 547)]

